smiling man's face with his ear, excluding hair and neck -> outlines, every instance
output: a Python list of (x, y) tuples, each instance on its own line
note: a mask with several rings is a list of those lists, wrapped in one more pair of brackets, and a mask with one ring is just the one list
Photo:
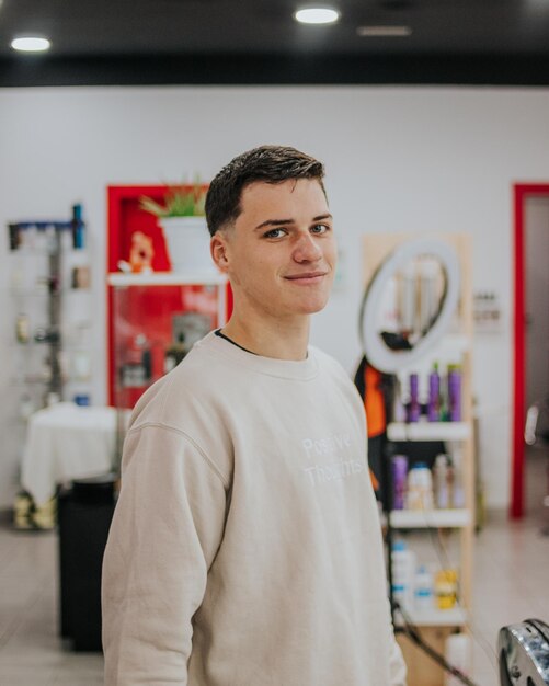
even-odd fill
[(291, 319), (321, 310), (333, 282), (332, 216), (316, 180), (254, 182), (235, 225), (211, 239), (214, 260), (247, 315)]

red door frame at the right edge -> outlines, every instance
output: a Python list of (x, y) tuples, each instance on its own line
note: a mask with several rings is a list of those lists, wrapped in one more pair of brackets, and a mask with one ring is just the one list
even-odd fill
[(525, 218), (526, 199), (534, 195), (549, 195), (548, 183), (517, 183), (513, 186), (514, 201), (514, 356), (513, 356), (513, 454), (511, 476), (512, 518), (524, 515), (524, 422), (526, 418), (526, 344), (525, 322)]

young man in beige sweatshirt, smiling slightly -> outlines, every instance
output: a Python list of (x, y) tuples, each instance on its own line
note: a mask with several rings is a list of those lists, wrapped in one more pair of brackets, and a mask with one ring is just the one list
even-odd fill
[(335, 270), (323, 167), (211, 182), (235, 307), (137, 403), (103, 568), (107, 686), (402, 686), (364, 407), (308, 345)]

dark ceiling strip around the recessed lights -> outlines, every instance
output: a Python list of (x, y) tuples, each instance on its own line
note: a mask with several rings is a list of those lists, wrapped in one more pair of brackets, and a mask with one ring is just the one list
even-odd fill
[[(549, 0), (0, 0), (0, 87), (75, 84), (549, 84)], [(408, 37), (361, 37), (359, 26)], [(10, 42), (45, 35), (47, 55)]]

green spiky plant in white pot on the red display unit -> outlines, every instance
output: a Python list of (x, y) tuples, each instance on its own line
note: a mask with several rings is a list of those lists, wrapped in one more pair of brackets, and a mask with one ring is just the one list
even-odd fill
[(163, 203), (142, 196), (139, 207), (155, 215), (164, 235), (173, 272), (213, 271), (204, 217), (207, 186), (170, 185)]

